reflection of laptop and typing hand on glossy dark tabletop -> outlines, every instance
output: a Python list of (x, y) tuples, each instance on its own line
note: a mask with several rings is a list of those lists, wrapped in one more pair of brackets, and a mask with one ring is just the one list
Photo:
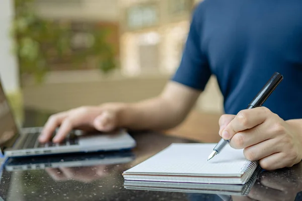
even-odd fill
[(5, 169), (11, 172), (45, 170), (56, 181), (73, 179), (91, 182), (106, 176), (106, 169), (134, 159), (131, 151), (10, 158)]

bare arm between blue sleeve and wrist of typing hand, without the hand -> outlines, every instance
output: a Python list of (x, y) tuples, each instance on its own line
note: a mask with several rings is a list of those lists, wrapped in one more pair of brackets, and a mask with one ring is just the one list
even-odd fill
[(120, 125), (133, 130), (173, 128), (186, 118), (199, 94), (196, 89), (170, 81), (158, 97), (127, 105), (121, 112)]

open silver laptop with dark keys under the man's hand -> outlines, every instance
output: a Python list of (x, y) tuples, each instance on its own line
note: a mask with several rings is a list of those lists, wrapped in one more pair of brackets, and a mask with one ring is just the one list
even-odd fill
[(41, 127), (18, 128), (0, 80), (0, 148), (2, 157), (129, 150), (136, 146), (135, 140), (125, 130), (111, 133), (95, 132), (89, 135), (80, 130), (73, 130), (59, 144), (39, 143), (38, 136), (41, 131)]

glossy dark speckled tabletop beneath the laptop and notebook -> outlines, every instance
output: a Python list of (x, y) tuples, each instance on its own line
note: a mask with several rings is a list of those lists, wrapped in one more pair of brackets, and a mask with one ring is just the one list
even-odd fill
[[(43, 126), (48, 116), (28, 110), (26, 111), (24, 126)], [(302, 200), (302, 193), (300, 193), (302, 191), (302, 163), (291, 168), (262, 172), (247, 196), (125, 189), (123, 171), (158, 153), (171, 143), (193, 143), (190, 140), (155, 132), (139, 132), (131, 133), (131, 135), (137, 142), (137, 147), (131, 152), (26, 159), (29, 163), (37, 161), (56, 162), (61, 164), (58, 168), (10, 171), (4, 167), (0, 195), (4, 200), (14, 201)], [(113, 157), (116, 162), (106, 164)], [(127, 159), (124, 160), (125, 162), (119, 162), (120, 159), (125, 158)], [(21, 159), (20, 161), (22, 162)], [(68, 165), (74, 164), (74, 161), (78, 161), (78, 163), (68, 167)]]

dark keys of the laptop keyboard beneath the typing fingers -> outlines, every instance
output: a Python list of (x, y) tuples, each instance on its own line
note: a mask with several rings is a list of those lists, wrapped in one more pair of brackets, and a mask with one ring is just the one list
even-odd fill
[(29, 149), (29, 148), (46, 148), (46, 147), (59, 147), (59, 146), (70, 146), (70, 145), (78, 145), (79, 144), (79, 141), (78, 141), (77, 137), (75, 137), (74, 135), (72, 135), (72, 137), (70, 137), (70, 134), (61, 143), (53, 143), (51, 141), (47, 142), (47, 143), (40, 143), (39, 140), (38, 140), (39, 135), (40, 135), (40, 132), (29, 133), (26, 137), (23, 148), (26, 148), (26, 149)]

